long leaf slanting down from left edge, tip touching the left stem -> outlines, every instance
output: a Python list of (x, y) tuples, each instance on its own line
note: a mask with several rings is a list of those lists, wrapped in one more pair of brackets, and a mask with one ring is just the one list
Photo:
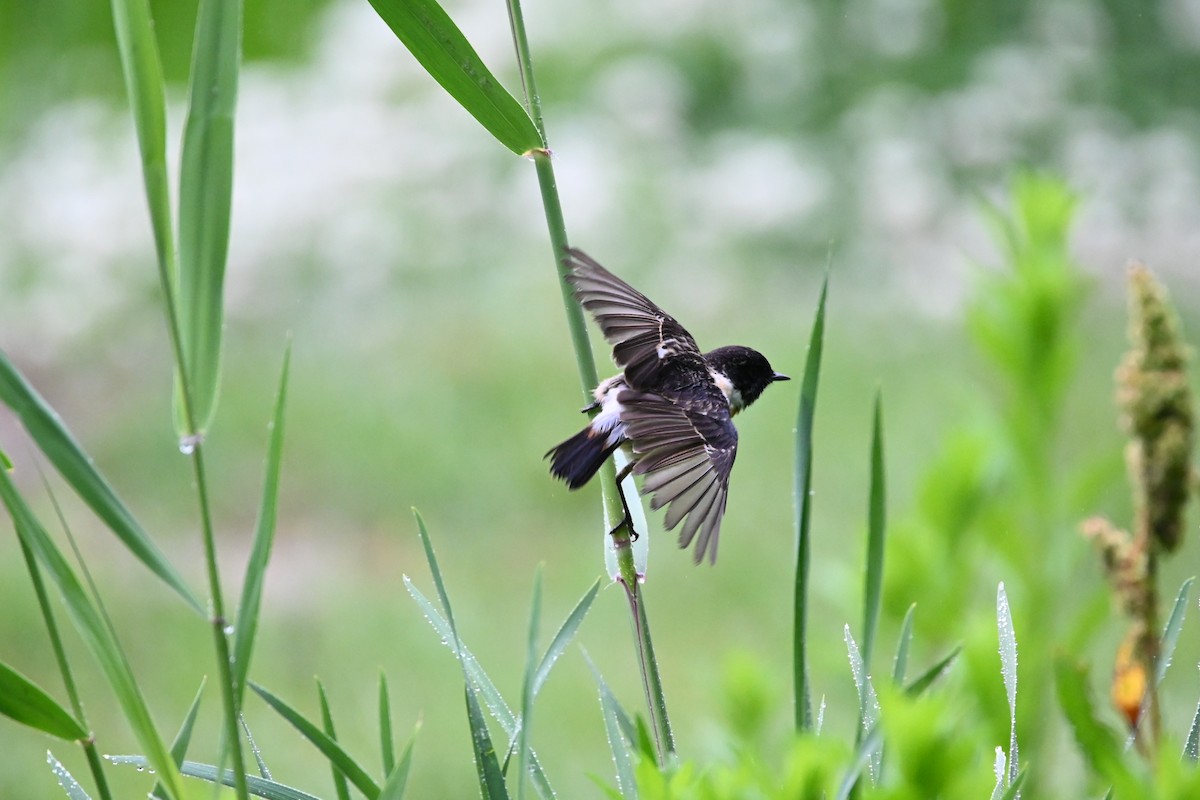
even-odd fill
[(84, 452), (54, 409), (4, 353), (0, 353), (0, 401), (12, 409), (30, 438), (37, 443), (37, 447), (54, 464), (79, 499), (116, 534), (134, 558), (162, 578), (198, 614), (204, 615), (204, 606), (116, 497), (116, 492), (96, 469), (91, 457)]

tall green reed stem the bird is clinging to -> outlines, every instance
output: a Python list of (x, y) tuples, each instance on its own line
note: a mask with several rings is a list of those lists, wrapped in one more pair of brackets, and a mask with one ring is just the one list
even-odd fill
[[(550, 230), (550, 243), (554, 252), (558, 285), (563, 295), (563, 308), (566, 312), (566, 326), (571, 332), (571, 344), (575, 348), (575, 362), (578, 367), (580, 385), (584, 402), (590, 402), (592, 389), (600, 383), (596, 374), (595, 359), (592, 355), (592, 343), (583, 318), (583, 308), (575, 300), (570, 284), (566, 283), (568, 266), (563, 260), (566, 252), (566, 223), (563, 219), (563, 206), (558, 197), (558, 184), (554, 180), (554, 166), (551, 161), (546, 138), (546, 125), (541, 114), (541, 97), (534, 78), (533, 59), (529, 54), (529, 40), (526, 36), (524, 17), (520, 0), (506, 0), (509, 24), (512, 28), (512, 42), (516, 47), (517, 62), (521, 68), (521, 84), (524, 90), (526, 108), (541, 137), (542, 146), (528, 154), (538, 172), (538, 185), (541, 190), (542, 206), (546, 213), (546, 227)], [(605, 462), (600, 470), (600, 491), (604, 498), (605, 517), (620, 519), (624, 510), (617, 486), (617, 469), (612, 459)], [(667, 717), (666, 696), (662, 692), (662, 680), (658, 662), (654, 660), (654, 646), (650, 639), (649, 620), (646, 615), (646, 603), (642, 597), (637, 567), (634, 564), (629, 529), (624, 525), (612, 531), (612, 546), (617, 552), (617, 565), (620, 582), (629, 600), (630, 615), (634, 624), (634, 637), (637, 645), (637, 661), (642, 672), (642, 687), (646, 692), (646, 704), (650, 711), (655, 745), (660, 763), (666, 763), (674, 754), (674, 740), (671, 734), (671, 721)]]

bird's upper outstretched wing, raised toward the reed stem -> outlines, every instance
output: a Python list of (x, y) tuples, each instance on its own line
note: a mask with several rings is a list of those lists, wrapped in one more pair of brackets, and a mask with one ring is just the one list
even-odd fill
[(712, 380), (696, 339), (674, 317), (583, 251), (568, 249), (565, 260), (566, 279), (612, 344), (629, 386), (661, 391)]

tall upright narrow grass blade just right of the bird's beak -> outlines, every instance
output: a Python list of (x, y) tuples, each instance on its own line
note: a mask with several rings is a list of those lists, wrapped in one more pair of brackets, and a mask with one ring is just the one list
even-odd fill
[(812, 697), (809, 687), (808, 603), (809, 528), (812, 516), (812, 417), (816, 414), (817, 386), (821, 381), (821, 350), (824, 343), (826, 295), (829, 275), (821, 283), (821, 299), (809, 337), (809, 355), (800, 385), (800, 405), (796, 419), (796, 578), (792, 589), (792, 678), (796, 729), (812, 729)]

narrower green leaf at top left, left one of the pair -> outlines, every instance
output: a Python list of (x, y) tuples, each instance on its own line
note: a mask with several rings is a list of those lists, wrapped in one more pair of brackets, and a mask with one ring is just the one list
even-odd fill
[(167, 302), (175, 303), (175, 235), (170, 224), (170, 188), (167, 179), (167, 98), (158, 41), (148, 0), (113, 0), (113, 28), (121, 56), (125, 90), (133, 112), (133, 128), (142, 154), (150, 227)]

